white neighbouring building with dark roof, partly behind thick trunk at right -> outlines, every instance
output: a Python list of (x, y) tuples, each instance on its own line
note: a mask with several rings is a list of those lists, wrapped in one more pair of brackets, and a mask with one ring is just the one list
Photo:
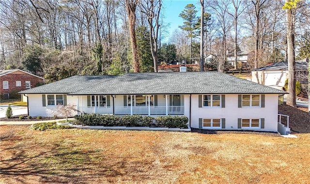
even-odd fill
[[(297, 77), (301, 73), (308, 75), (308, 62), (295, 61), (295, 70)], [(267, 85), (277, 89), (282, 89), (287, 78), (287, 61), (280, 61), (251, 71), (252, 82)]]

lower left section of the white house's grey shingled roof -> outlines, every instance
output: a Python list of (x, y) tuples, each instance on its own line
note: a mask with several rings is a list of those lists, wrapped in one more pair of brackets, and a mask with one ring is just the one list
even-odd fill
[(53, 83), (41, 85), (19, 92), (20, 94), (68, 94), (86, 87), (98, 85), (112, 79), (115, 76), (100, 75), (76, 75)]

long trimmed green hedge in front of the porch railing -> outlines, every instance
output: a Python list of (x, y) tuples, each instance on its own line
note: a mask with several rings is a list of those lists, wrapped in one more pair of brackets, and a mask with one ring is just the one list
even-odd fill
[(186, 116), (151, 116), (141, 115), (110, 115), (110, 114), (82, 114), (75, 116), (75, 125), (91, 126), (126, 126), (126, 127), (170, 127), (187, 128)]

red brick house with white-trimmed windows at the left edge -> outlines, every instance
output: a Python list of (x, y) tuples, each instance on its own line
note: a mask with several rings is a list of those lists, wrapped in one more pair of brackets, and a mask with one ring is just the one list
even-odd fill
[(1, 99), (16, 98), (17, 92), (35, 87), (43, 80), (42, 77), (19, 69), (0, 71)]

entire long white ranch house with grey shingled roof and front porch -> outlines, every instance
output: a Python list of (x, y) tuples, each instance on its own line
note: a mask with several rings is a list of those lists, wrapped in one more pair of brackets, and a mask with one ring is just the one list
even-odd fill
[(221, 72), (161, 72), (72, 76), (20, 93), (31, 116), (70, 103), (84, 113), (186, 115), (192, 128), (276, 132), (286, 92)]

